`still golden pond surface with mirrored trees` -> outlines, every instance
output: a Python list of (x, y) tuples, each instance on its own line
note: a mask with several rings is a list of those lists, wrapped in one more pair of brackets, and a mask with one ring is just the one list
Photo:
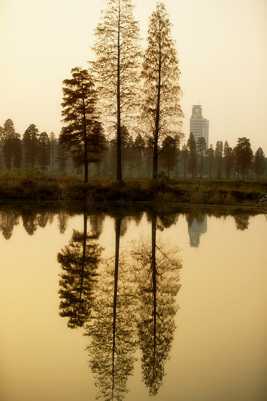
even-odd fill
[(267, 399), (267, 220), (0, 211), (2, 401)]

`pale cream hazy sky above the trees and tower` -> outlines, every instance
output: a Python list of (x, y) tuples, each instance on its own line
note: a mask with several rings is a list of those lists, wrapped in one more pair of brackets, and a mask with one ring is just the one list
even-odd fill
[[(193, 104), (209, 119), (209, 143), (250, 138), (267, 155), (267, 0), (166, 0), (184, 95), (183, 131)], [(146, 38), (154, 0), (134, 0)], [(88, 68), (103, 0), (0, 0), (0, 125), (61, 130), (62, 81)]]

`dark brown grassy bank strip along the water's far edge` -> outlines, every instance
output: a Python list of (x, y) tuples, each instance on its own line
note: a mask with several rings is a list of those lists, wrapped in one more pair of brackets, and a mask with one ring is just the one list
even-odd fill
[(267, 180), (208, 178), (141, 180), (114, 177), (41, 176), (37, 170), (0, 175), (0, 201), (92, 203), (145, 203), (151, 205), (202, 205), (267, 210)]

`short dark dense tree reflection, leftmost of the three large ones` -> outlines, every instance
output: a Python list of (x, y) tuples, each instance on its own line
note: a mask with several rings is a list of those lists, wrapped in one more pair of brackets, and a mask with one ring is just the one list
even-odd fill
[(103, 248), (88, 240), (95, 236), (87, 234), (87, 214), (84, 214), (84, 231), (73, 231), (72, 239), (62, 252), (58, 262), (60, 274), (60, 316), (68, 316), (68, 326), (82, 327), (90, 319), (94, 304), (96, 276)]

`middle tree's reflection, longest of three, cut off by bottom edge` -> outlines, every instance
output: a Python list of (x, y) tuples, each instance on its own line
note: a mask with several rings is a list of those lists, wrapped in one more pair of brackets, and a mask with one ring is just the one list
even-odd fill
[[(119, 255), (121, 219), (116, 219), (115, 257), (106, 260), (99, 277), (95, 318), (87, 325), (86, 335), (92, 337), (88, 346), (89, 364), (96, 374), (97, 397), (121, 400), (132, 374), (135, 339), (135, 286), (127, 252)], [(101, 283), (101, 285), (100, 285)]]

